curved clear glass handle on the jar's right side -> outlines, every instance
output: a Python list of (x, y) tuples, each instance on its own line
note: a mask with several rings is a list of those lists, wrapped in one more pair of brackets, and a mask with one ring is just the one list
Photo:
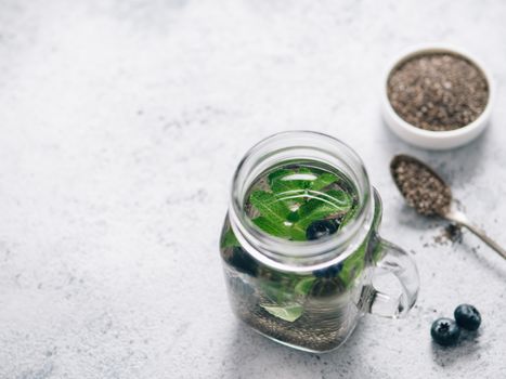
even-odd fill
[(384, 317), (404, 317), (418, 296), (418, 270), (407, 252), (378, 237), (380, 259), (374, 267), (374, 275), (393, 274), (402, 293), (393, 297), (372, 287), (368, 312)]

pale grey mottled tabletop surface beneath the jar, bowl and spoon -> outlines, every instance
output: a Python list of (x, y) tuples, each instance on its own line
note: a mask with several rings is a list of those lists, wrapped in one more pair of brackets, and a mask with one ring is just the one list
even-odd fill
[[(0, 1), (0, 378), (506, 377), (506, 262), (403, 206), (388, 174), (411, 152), (506, 245), (504, 1)], [(472, 144), (414, 149), (382, 125), (389, 58), (445, 41), (496, 79)], [(382, 234), (416, 252), (419, 301), (366, 316), (315, 355), (248, 330), (228, 305), (218, 237), (230, 179), (268, 134), (313, 129), (363, 157)], [(478, 337), (442, 350), (460, 302)]]

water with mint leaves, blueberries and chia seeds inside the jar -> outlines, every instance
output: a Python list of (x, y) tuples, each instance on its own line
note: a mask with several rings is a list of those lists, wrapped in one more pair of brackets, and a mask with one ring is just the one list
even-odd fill
[[(358, 191), (341, 171), (315, 161), (289, 161), (259, 175), (247, 191), (246, 215), (262, 233), (290, 244), (335, 238), (359, 209)], [(221, 254), (235, 313), (257, 331), (309, 351), (338, 347), (361, 312), (360, 283), (367, 240), (338, 264), (310, 273), (268, 266), (238, 243), (229, 222)], [(359, 283), (359, 285), (358, 285)]]

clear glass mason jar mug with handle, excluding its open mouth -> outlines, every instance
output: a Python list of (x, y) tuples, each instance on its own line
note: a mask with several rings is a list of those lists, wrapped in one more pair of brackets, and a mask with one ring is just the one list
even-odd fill
[[(245, 196), (255, 180), (276, 165), (301, 159), (339, 170), (356, 187), (354, 218), (328, 238), (277, 238), (246, 214)], [(380, 198), (359, 156), (342, 142), (306, 131), (261, 141), (237, 167), (220, 238), (233, 311), (260, 334), (311, 352), (338, 348), (366, 312), (404, 316), (416, 301), (418, 273), (405, 251), (379, 237), (380, 220)], [(373, 286), (373, 277), (385, 273), (399, 279), (400, 296)]]

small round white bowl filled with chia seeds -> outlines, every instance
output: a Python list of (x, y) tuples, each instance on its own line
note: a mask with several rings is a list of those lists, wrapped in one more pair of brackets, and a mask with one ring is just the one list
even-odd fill
[(385, 121), (419, 147), (462, 146), (490, 119), (491, 76), (475, 57), (453, 48), (425, 47), (400, 55), (384, 86)]

